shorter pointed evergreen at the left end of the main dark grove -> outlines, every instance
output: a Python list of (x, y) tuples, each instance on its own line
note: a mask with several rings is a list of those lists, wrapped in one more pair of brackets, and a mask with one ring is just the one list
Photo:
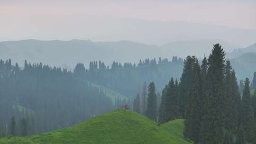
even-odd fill
[(166, 90), (166, 100), (164, 108), (164, 121), (168, 122), (176, 118), (180, 118), (181, 114), (179, 112), (179, 90), (177, 83), (174, 84), (174, 79), (169, 81)]

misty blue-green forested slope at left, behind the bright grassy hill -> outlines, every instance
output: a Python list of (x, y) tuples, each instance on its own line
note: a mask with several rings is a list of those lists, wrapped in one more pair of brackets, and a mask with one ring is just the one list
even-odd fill
[(18, 136), (24, 131), (24, 135), (33, 135), (72, 126), (127, 103), (124, 96), (106, 95), (105, 90), (66, 69), (27, 61), (21, 69), (10, 59), (0, 60), (0, 136), (12, 131)]

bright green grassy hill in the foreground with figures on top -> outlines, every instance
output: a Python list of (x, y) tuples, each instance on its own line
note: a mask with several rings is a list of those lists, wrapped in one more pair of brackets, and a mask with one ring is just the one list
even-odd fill
[(114, 110), (81, 124), (30, 137), (0, 139), (0, 144), (192, 144), (183, 120), (162, 126), (133, 111)]

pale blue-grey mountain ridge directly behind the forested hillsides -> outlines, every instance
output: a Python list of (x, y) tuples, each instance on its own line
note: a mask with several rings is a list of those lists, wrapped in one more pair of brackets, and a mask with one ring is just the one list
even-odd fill
[(89, 61), (101, 60), (107, 65), (113, 61), (121, 63), (138, 63), (145, 58), (168, 58), (172, 56), (186, 57), (208, 55), (213, 44), (220, 43), (226, 51), (231, 51), (237, 45), (219, 39), (176, 41), (165, 45), (146, 45), (132, 41), (119, 42), (92, 42), (90, 40), (70, 41), (41, 41), (21, 40), (0, 42), (0, 58), (18, 62), (23, 66), (24, 60), (29, 62), (42, 62), (58, 66), (74, 66), (76, 63), (85, 63), (88, 68)]

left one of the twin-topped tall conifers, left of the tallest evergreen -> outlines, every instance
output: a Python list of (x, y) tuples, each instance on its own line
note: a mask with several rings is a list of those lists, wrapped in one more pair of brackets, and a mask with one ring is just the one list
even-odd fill
[(181, 95), (181, 97), (179, 98), (179, 107), (182, 117), (185, 117), (188, 92), (193, 79), (192, 65), (194, 61), (194, 58), (192, 58), (191, 56), (187, 56), (187, 58), (184, 60), (183, 73), (179, 84)]

